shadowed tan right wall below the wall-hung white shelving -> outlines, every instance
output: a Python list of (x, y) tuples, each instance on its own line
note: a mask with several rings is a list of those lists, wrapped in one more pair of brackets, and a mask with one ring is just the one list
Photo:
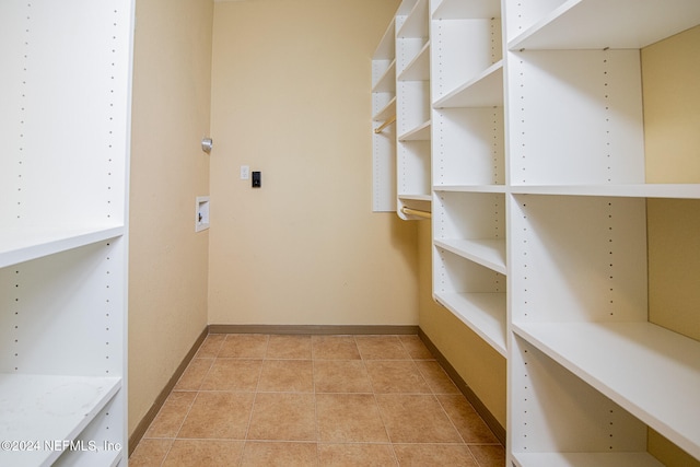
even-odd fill
[(505, 427), (506, 361), (454, 314), (432, 299), (430, 229), (430, 221), (419, 222), (420, 328), (501, 427)]

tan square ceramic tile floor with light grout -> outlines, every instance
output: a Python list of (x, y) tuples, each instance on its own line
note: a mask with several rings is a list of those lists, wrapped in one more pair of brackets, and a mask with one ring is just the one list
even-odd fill
[(418, 336), (209, 335), (129, 465), (501, 467), (505, 455)]

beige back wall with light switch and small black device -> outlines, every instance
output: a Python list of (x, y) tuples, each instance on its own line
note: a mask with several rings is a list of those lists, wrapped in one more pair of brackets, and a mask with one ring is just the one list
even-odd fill
[(416, 224), (371, 199), (371, 57), (397, 7), (215, 3), (209, 323), (418, 323)]

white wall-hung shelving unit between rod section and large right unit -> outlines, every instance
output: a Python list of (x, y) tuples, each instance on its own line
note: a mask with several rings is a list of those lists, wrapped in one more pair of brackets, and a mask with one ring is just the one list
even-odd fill
[(433, 293), (505, 357), (501, 35), (499, 0), (431, 4)]

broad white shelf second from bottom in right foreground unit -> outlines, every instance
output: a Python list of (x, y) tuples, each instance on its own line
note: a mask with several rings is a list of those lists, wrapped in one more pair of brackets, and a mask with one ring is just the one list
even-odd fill
[(649, 323), (514, 323), (513, 328), (700, 458), (700, 342)]

